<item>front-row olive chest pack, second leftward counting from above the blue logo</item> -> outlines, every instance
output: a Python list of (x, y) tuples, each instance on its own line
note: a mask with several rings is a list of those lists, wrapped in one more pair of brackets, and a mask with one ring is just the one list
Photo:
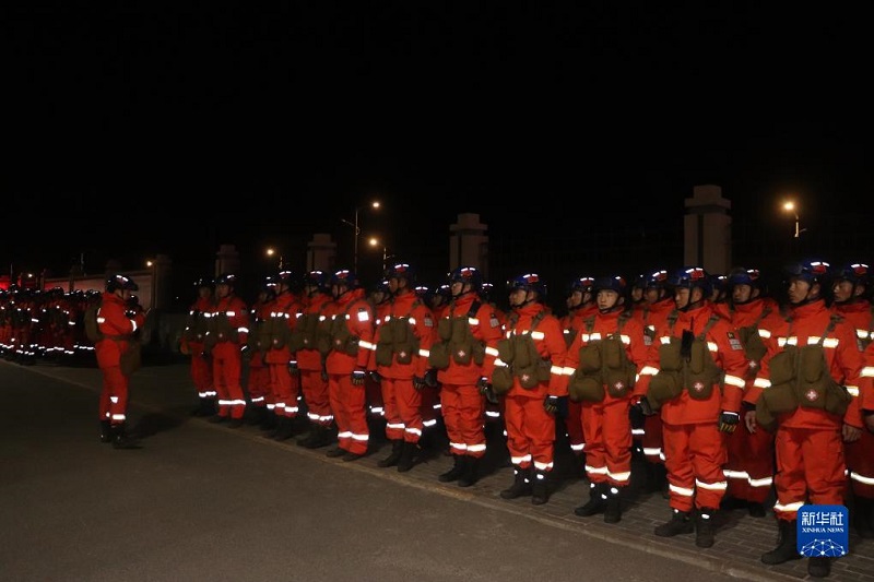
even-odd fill
[(673, 334), (676, 320), (677, 312), (673, 311), (668, 318), (671, 337), (668, 343), (659, 346), (660, 369), (650, 380), (647, 391), (647, 401), (653, 411), (677, 397), (683, 390), (693, 400), (708, 400), (713, 392), (713, 384), (718, 384), (721, 390), (724, 381), (724, 373), (713, 361), (707, 347), (707, 333), (720, 317), (717, 313), (711, 314), (697, 336), (689, 330), (684, 330), (682, 337), (676, 337)]

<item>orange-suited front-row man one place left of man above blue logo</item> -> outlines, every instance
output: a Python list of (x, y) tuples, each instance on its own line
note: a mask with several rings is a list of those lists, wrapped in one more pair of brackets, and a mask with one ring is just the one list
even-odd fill
[[(656, 332), (648, 366), (658, 370), (641, 400), (661, 411), (671, 520), (656, 535), (695, 532), (695, 545), (711, 547), (728, 483), (725, 435), (740, 421), (748, 368), (737, 330), (711, 305), (712, 282), (700, 266), (674, 272), (676, 310)], [(694, 513), (693, 513), (694, 510)]]

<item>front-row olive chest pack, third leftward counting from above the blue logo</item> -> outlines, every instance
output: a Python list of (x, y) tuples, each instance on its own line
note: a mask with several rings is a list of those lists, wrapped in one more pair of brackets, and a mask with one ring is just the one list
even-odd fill
[[(579, 349), (579, 365), (568, 381), (568, 396), (574, 402), (603, 402), (606, 392), (621, 399), (631, 392), (637, 366), (628, 359), (622, 342), (622, 329), (630, 319), (627, 311), (619, 316), (616, 331), (604, 338), (592, 340)], [(589, 334), (594, 318), (584, 321)], [(606, 392), (604, 391), (606, 385)]]

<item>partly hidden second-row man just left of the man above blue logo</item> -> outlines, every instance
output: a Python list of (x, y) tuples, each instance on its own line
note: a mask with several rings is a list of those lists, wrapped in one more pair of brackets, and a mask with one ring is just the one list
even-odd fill
[[(734, 269), (725, 281), (725, 314), (737, 328), (746, 353), (745, 392), (749, 392), (761, 369), (766, 346), (761, 340), (770, 335), (769, 321), (780, 318), (780, 306), (765, 295), (761, 273), (757, 269)], [(752, 404), (744, 403), (745, 409)], [(722, 500), (725, 509), (745, 508), (753, 518), (765, 516), (765, 500), (773, 486), (773, 435), (767, 430), (751, 431), (745, 426), (728, 437), (729, 461), (725, 477), (729, 487)]]

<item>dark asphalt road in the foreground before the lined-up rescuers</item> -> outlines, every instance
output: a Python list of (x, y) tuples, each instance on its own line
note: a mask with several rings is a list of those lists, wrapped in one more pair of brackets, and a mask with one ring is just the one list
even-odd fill
[(144, 447), (115, 450), (97, 439), (97, 387), (96, 370), (0, 361), (4, 582), (737, 580), (530, 504), (188, 418), (181, 387), (135, 389)]

